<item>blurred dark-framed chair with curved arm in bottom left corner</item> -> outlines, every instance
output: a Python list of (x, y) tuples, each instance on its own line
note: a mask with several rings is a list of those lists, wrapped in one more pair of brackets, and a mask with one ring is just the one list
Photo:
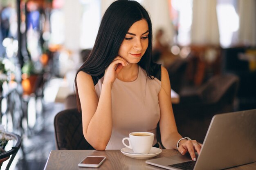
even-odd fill
[(16, 144), (15, 144), (15, 146), (13, 146), (11, 148), (11, 150), (7, 150), (6, 152), (3, 152), (3, 153), (0, 154), (0, 159), (4, 159), (4, 158), (8, 159), (11, 156), (11, 158), (9, 159), (9, 162), (8, 162), (6, 168), (5, 168), (5, 170), (9, 170), (14, 157), (16, 156), (18, 150), (20, 149), (21, 137), (19, 135), (16, 135), (14, 133), (9, 133), (9, 132), (5, 132), (5, 134), (8, 135), (8, 136), (13, 137), (16, 140)]

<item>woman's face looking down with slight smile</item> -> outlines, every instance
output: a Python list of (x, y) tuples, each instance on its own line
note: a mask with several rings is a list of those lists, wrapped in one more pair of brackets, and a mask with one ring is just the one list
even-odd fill
[(118, 55), (129, 63), (138, 63), (148, 48), (148, 34), (148, 22), (145, 19), (132, 24), (119, 48)]

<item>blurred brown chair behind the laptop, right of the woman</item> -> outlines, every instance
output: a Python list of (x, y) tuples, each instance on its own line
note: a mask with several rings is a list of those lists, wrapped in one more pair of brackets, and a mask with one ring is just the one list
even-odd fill
[(213, 115), (234, 111), (238, 84), (236, 75), (216, 75), (190, 95), (181, 94), (180, 103), (173, 104), (180, 134), (202, 142)]

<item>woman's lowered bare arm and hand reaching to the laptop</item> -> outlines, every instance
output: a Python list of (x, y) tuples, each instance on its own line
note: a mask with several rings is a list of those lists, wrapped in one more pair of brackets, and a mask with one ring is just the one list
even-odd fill
[[(166, 68), (162, 67), (162, 88), (159, 92), (159, 106), (160, 106), (160, 120), (159, 120), (159, 128), (161, 132), (161, 140), (162, 144), (167, 149), (177, 149), (176, 144), (182, 136), (178, 133), (174, 115), (173, 108), (171, 105), (171, 84), (168, 76), (168, 72)], [(179, 151), (184, 155), (186, 152), (189, 152), (191, 158), (195, 158), (194, 146), (193, 144), (197, 143), (195, 140), (188, 141), (182, 140), (180, 141)], [(195, 150), (200, 152), (201, 144), (195, 145)]]

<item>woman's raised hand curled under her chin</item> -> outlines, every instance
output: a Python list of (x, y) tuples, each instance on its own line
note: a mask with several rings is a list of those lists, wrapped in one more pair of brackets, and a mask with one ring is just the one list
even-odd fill
[(103, 83), (110, 83), (112, 85), (121, 69), (128, 65), (129, 63), (124, 58), (117, 56), (105, 70)]

